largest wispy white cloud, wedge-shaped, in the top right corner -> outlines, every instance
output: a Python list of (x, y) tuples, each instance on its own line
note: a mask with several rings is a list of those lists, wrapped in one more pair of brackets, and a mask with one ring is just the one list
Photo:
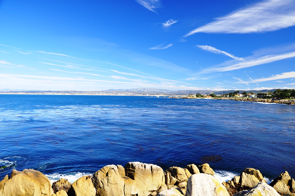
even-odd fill
[(256, 33), (295, 25), (294, 0), (265, 0), (201, 26), (184, 37), (204, 33)]

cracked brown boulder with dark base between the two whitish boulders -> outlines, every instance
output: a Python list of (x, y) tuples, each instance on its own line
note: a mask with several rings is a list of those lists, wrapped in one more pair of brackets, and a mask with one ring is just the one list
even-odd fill
[(240, 176), (235, 176), (232, 180), (222, 182), (230, 195), (243, 190), (254, 188), (259, 182), (266, 182), (258, 169), (246, 168)]

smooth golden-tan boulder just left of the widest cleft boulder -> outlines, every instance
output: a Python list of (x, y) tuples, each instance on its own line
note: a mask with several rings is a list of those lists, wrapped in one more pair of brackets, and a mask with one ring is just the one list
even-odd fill
[(82, 176), (68, 190), (69, 196), (95, 196), (96, 190), (90, 176)]

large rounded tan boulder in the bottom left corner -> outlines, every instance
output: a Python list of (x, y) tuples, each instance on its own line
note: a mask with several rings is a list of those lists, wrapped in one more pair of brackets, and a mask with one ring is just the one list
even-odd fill
[(12, 170), (0, 182), (0, 196), (48, 196), (52, 195), (50, 180), (40, 171), (24, 169)]

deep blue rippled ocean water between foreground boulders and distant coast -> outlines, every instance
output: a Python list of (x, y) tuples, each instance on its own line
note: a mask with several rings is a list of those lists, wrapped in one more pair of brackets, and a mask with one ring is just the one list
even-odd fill
[[(144, 96), (0, 95), (0, 178), (32, 168), (77, 178), (108, 164), (184, 167), (221, 176), (259, 169), (295, 178), (295, 107)], [(73, 180), (72, 180), (73, 181)]]

